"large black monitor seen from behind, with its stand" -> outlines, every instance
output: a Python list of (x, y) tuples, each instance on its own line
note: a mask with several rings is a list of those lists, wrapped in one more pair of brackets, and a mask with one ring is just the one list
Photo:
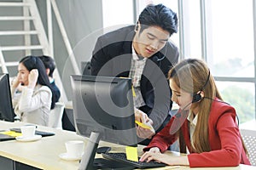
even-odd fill
[(90, 137), (81, 161), (86, 169), (93, 169), (99, 140), (137, 146), (131, 79), (83, 75), (71, 82), (76, 132)]

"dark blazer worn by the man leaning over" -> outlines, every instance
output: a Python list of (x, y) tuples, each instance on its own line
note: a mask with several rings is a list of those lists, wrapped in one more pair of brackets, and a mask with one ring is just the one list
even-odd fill
[[(132, 39), (135, 26), (126, 26), (99, 37), (90, 60), (91, 75), (129, 77), (132, 57)], [(145, 111), (158, 129), (172, 107), (172, 91), (166, 81), (167, 73), (178, 61), (178, 50), (167, 42), (160, 52), (147, 59), (140, 88), (146, 106)]]

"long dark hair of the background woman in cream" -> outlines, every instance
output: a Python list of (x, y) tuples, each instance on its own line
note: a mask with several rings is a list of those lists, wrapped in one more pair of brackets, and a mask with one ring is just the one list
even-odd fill
[[(38, 84), (41, 84), (43, 86), (47, 86), (50, 88), (51, 92), (53, 91), (49, 84), (49, 78), (46, 74), (44, 63), (41, 59), (38, 57), (29, 55), (24, 57), (23, 59), (20, 59), (20, 63), (22, 63), (28, 71), (32, 71), (32, 69), (38, 69)], [(55, 95), (52, 95), (51, 98), (51, 106), (50, 109), (55, 108)]]

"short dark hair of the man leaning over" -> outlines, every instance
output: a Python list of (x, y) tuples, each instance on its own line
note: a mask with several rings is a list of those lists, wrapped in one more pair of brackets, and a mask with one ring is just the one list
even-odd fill
[(177, 33), (177, 14), (171, 8), (163, 4), (149, 4), (139, 15), (138, 22), (141, 25), (142, 32), (148, 26), (160, 26), (163, 30), (168, 31), (170, 36)]

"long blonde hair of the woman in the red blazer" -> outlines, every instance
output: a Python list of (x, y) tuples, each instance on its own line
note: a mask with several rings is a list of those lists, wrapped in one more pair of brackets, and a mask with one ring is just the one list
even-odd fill
[(191, 105), (193, 110), (198, 107), (198, 119), (193, 134), (193, 151), (201, 153), (210, 151), (208, 138), (208, 118), (211, 111), (212, 99), (222, 100), (207, 64), (201, 59), (183, 59), (169, 71), (168, 79), (172, 79), (178, 88), (192, 96), (201, 94), (208, 99), (200, 99)]

